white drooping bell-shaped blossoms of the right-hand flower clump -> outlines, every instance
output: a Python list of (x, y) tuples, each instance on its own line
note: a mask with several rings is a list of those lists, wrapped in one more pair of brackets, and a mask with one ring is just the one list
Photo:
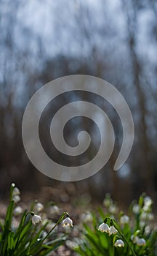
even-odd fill
[[(148, 221), (151, 221), (154, 219), (154, 215), (151, 212), (152, 203), (153, 203), (153, 200), (151, 199), (151, 197), (142, 195), (140, 197), (139, 203), (134, 203), (134, 205), (132, 206), (132, 212), (137, 216), (136, 217), (137, 223), (134, 225), (140, 228), (139, 230), (138, 229), (134, 230), (134, 234), (130, 235), (131, 236), (130, 241), (132, 241), (132, 244), (134, 245), (146, 246), (147, 244), (145, 238), (142, 237), (142, 234), (144, 234), (145, 236), (147, 236), (147, 234), (148, 235), (150, 234), (151, 228), (149, 225), (146, 225), (146, 224), (148, 224)], [(105, 197), (105, 200), (103, 201), (103, 205), (105, 206), (105, 208), (108, 209), (108, 215), (112, 216), (113, 212), (112, 213), (110, 212), (110, 207), (115, 207), (116, 204), (113, 203), (113, 200), (110, 198), (110, 195), (107, 195)], [(119, 227), (116, 221), (113, 221), (112, 218), (110, 219), (110, 217), (105, 217), (104, 222), (102, 222), (102, 224), (98, 227), (98, 230), (100, 230), (101, 233), (108, 233), (109, 236), (115, 235), (115, 238), (113, 238), (114, 246), (124, 247), (125, 244), (129, 246), (129, 243), (128, 241), (126, 241), (124, 233), (129, 232), (129, 230), (131, 231), (129, 226), (132, 223), (132, 219), (130, 219), (130, 217), (124, 214), (122, 211), (118, 215), (118, 219), (119, 219), (119, 225), (120, 225)], [(116, 236), (118, 236), (118, 238), (116, 238)], [(132, 247), (131, 247), (131, 250), (133, 250)]]

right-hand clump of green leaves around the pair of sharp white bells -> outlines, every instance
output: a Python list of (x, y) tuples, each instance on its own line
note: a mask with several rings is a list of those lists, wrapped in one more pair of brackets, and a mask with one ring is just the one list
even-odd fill
[[(152, 200), (143, 194), (139, 202), (129, 206), (126, 216), (118, 208), (109, 195), (104, 200), (105, 209), (99, 208), (93, 214), (92, 223), (84, 223), (83, 238), (75, 251), (81, 256), (155, 256), (157, 255), (157, 229), (153, 220)], [(108, 230), (100, 232), (98, 227), (105, 223), (114, 226), (116, 234), (108, 234)], [(115, 246), (121, 239), (124, 246)]]

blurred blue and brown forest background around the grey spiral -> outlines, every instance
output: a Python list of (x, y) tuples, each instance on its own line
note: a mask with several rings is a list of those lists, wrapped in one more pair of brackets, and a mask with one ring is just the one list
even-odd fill
[[(29, 191), (68, 186), (33, 167), (21, 125), (29, 99), (41, 86), (65, 75), (86, 74), (107, 80), (121, 92), (132, 110), (135, 138), (126, 164), (114, 172), (121, 122), (104, 103), (116, 134), (113, 155), (103, 170), (74, 186), (97, 200), (105, 192), (126, 202), (143, 191), (156, 197), (157, 1), (1, 0), (0, 31), (1, 195), (12, 181)], [(68, 102), (67, 97), (62, 101)], [(49, 111), (47, 118), (52, 118)], [(66, 134), (75, 128), (71, 124)], [(43, 121), (41, 139), (51, 151), (47, 129)]]

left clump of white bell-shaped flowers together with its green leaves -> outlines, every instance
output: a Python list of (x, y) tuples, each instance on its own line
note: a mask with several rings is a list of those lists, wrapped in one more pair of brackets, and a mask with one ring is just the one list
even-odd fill
[[(56, 214), (60, 212), (57, 206), (52, 206), (49, 202), (44, 207), (44, 204), (35, 200), (31, 203), (31, 209), (28, 211), (25, 204), (19, 202), (20, 189), (12, 184), (9, 206), (5, 208), (4, 212), (5, 217), (0, 211), (0, 217), (2, 217), (0, 218), (0, 255), (44, 256), (49, 255), (52, 251), (61, 255), (59, 249), (61, 244), (65, 244), (68, 235), (67, 230), (59, 228), (59, 226), (62, 224), (63, 227), (73, 227), (73, 221), (68, 213), (63, 212), (55, 223), (52, 222), (52, 219), (55, 219), (52, 215), (54, 211)], [(52, 212), (49, 211), (50, 209)], [(57, 217), (56, 214), (55, 217)]]

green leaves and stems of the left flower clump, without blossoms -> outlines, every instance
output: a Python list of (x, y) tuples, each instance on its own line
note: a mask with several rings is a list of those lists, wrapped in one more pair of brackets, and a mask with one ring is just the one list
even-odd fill
[(42, 237), (42, 233), (48, 223), (44, 225), (33, 225), (32, 212), (24, 211), (18, 227), (12, 228), (13, 210), (15, 201), (13, 191), (15, 184), (11, 186), (10, 203), (7, 208), (7, 214), (4, 224), (0, 223), (0, 255), (1, 256), (21, 256), (21, 255), (39, 255), (44, 256), (49, 252), (55, 251), (60, 244), (65, 241), (65, 236), (57, 238), (52, 235), (52, 230), (60, 224), (67, 213), (63, 213), (57, 224), (49, 231), (47, 236)]

